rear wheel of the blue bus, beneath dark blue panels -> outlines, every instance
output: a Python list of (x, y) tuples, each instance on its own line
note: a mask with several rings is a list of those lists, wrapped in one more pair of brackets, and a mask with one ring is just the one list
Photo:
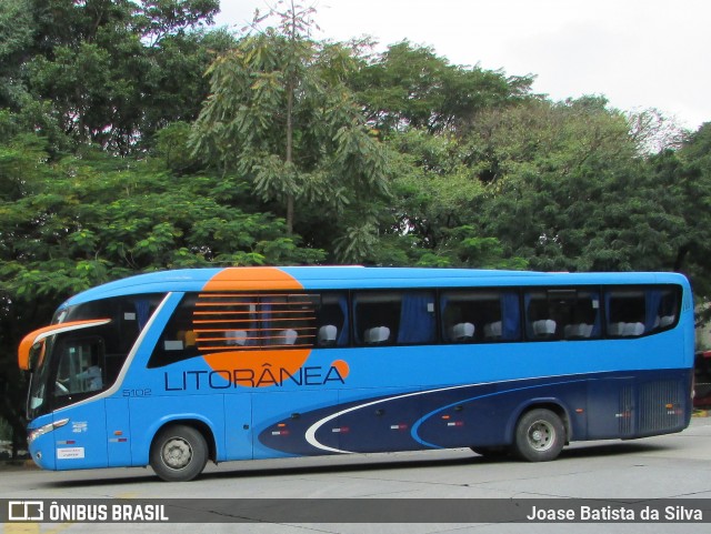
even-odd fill
[(523, 414), (517, 424), (514, 451), (523, 460), (555, 460), (564, 444), (563, 422), (550, 410), (531, 410)]

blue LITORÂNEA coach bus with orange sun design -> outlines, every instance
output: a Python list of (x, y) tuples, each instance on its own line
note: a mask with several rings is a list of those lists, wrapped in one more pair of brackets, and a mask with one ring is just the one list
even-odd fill
[(360, 266), (141, 274), (28, 334), (28, 441), (49, 470), (680, 432), (694, 321), (674, 273)]

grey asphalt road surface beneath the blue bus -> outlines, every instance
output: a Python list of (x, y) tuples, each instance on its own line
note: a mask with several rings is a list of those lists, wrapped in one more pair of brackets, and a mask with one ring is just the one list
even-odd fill
[[(711, 417), (684, 432), (622, 442), (573, 443), (554, 462), (492, 461), (469, 450), (302, 457), (208, 465), (188, 483), (159, 481), (150, 468), (42, 472), (0, 470), (0, 500), (151, 498), (583, 498), (711, 500)], [(388, 503), (388, 501), (383, 501)], [(477, 501), (478, 502), (478, 501)], [(711, 501), (704, 517), (711, 516)], [(216, 520), (217, 521), (217, 520)], [(550, 533), (709, 532), (709, 523), (460, 524), (460, 523), (8, 523), (3, 534), (59, 532), (309, 533)]]

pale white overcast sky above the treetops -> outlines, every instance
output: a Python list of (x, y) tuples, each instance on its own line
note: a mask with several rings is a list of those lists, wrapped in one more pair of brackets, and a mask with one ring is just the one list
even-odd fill
[[(234, 29), (272, 0), (221, 0)], [(605, 97), (623, 111), (657, 109), (691, 130), (711, 121), (709, 0), (302, 0), (317, 40), (409, 40), (457, 66), (534, 74), (552, 100)]]

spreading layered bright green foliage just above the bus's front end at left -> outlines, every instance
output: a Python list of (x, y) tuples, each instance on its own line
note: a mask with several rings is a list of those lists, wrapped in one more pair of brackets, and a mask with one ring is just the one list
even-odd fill
[[(16, 260), (18, 273), (23, 273), (14, 280), (21, 282), (32, 275), (33, 265), (52, 261), (59, 264), (51, 276), (88, 286), (114, 278), (114, 270), (126, 274), (177, 263), (320, 259), (313, 251), (302, 253), (297, 239), (280, 240), (283, 222), (269, 213), (250, 213), (216, 200), (214, 179), (171, 175), (158, 163), (99, 153), (67, 158), (34, 184), (34, 194), (2, 204), (3, 221), (11, 221), (7, 235), (13, 238), (2, 240), (6, 258), (10, 265)], [(266, 245), (272, 240), (280, 244)], [(64, 261), (81, 263), (68, 270)], [(64, 286), (52, 283), (38, 282), (38, 288)]]

